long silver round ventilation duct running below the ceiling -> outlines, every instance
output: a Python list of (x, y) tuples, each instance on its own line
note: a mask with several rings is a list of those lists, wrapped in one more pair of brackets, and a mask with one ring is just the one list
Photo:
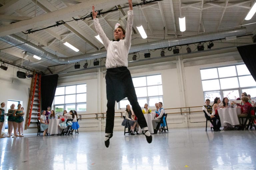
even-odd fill
[[(191, 43), (197, 43), (197, 42), (213, 41), (213, 40), (225, 39), (226, 37), (243, 36), (243, 35), (246, 35), (245, 27), (224, 30), (224, 31), (217, 31), (212, 33), (205, 33), (205, 34), (200, 34), (195, 36), (135, 44), (131, 46), (129, 53), (139, 52), (142, 50), (166, 48), (166, 47), (176, 46), (176, 45), (185, 45), (185, 44), (191, 44)], [(35, 54), (39, 57), (42, 57), (57, 63), (62, 63), (62, 64), (69, 64), (69, 63), (75, 63), (75, 62), (84, 61), (84, 60), (103, 58), (103, 57), (106, 57), (107, 55), (107, 51), (103, 50), (103, 51), (96, 51), (96, 52), (91, 52), (86, 54), (75, 55), (71, 57), (58, 57), (46, 51), (45, 49), (37, 46), (36, 44), (27, 42), (25, 39), (22, 39), (21, 37), (18, 37), (15, 34), (0, 37), (0, 40), (3, 42), (7, 42), (11, 45), (14, 45), (18, 48), (21, 48), (22, 50), (28, 51), (32, 54)]]

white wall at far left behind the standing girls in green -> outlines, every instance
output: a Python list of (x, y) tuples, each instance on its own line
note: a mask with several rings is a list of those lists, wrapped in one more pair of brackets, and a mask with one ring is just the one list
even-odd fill
[[(22, 101), (24, 107), (24, 112), (27, 112), (28, 98), (29, 98), (29, 88), (31, 83), (31, 78), (21, 79), (16, 76), (17, 71), (24, 71), (14, 68), (9, 65), (8, 69), (0, 69), (0, 103), (4, 102), (7, 105), (8, 100)], [(25, 71), (24, 71), (25, 72)], [(17, 106), (16, 106), (17, 107)], [(7, 112), (10, 108), (4, 108)], [(25, 115), (26, 116), (26, 115)], [(24, 116), (24, 120), (26, 117)], [(5, 116), (6, 118), (6, 116)], [(25, 124), (25, 122), (24, 122)], [(23, 124), (23, 125), (24, 125)], [(3, 126), (4, 131), (5, 125)]]

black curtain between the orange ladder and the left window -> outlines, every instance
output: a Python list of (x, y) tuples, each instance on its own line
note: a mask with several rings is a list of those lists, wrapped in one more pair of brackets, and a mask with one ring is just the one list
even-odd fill
[(59, 76), (57, 74), (41, 77), (41, 111), (47, 110), (48, 106), (52, 106), (57, 88), (58, 77)]

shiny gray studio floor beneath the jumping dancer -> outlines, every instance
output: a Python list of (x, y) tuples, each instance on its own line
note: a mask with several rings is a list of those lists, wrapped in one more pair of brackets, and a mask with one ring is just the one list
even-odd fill
[(176, 128), (153, 135), (114, 131), (109, 148), (104, 132), (73, 136), (1, 138), (1, 170), (225, 170), (256, 169), (256, 130), (205, 132)]

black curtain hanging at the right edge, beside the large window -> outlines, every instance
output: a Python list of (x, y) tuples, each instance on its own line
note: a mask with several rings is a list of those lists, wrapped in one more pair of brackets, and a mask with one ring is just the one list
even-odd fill
[(237, 47), (246, 67), (256, 81), (256, 44)]

